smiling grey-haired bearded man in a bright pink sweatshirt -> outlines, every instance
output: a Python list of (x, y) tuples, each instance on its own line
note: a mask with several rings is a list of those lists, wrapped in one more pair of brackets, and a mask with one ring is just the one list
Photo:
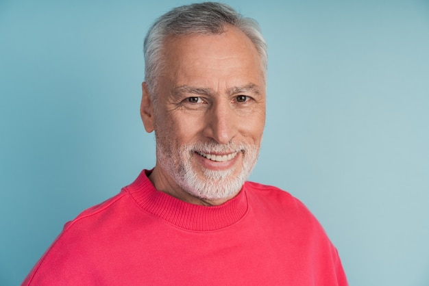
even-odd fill
[(140, 113), (156, 166), (68, 222), (25, 285), (347, 285), (287, 192), (245, 181), (265, 125), (267, 51), (228, 5), (164, 14), (145, 38)]

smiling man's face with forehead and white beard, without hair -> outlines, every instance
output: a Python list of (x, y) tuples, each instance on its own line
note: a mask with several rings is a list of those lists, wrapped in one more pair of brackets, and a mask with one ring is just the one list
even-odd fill
[(169, 38), (165, 48), (153, 107), (156, 181), (175, 194), (223, 203), (241, 190), (258, 157), (265, 125), (260, 58), (235, 27)]

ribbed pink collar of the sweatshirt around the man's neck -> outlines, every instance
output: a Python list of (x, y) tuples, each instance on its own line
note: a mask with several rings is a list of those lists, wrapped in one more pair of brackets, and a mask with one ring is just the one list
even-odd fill
[(156, 190), (149, 181), (151, 170), (143, 170), (131, 185), (125, 187), (145, 211), (189, 231), (216, 231), (238, 222), (247, 212), (243, 186), (237, 196), (215, 207), (193, 205)]

